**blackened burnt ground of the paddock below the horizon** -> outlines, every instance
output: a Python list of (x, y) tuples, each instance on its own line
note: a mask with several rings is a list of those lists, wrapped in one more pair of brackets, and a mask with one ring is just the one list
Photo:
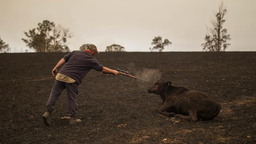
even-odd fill
[[(64, 90), (46, 127), (41, 116), (54, 83), (51, 70), (64, 54), (0, 54), (0, 143), (256, 143), (256, 52), (102, 52), (96, 55), (102, 65), (150, 82), (91, 70), (79, 86), (82, 122), (61, 119), (69, 115)], [(146, 90), (160, 75), (212, 96), (221, 112), (194, 123), (159, 114), (160, 96)]]

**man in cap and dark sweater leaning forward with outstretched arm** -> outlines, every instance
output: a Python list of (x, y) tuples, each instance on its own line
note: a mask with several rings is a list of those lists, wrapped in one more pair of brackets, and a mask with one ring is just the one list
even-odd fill
[[(52, 87), (52, 92), (46, 104), (46, 111), (43, 114), (43, 122), (46, 126), (50, 126), (50, 113), (52, 113), (54, 105), (64, 89), (67, 89), (68, 95), (68, 107), (70, 113), (69, 124), (77, 124), (81, 122), (80, 119), (76, 119), (78, 104), (78, 85), (81, 84), (83, 77), (91, 70), (102, 71), (106, 73), (111, 73), (113, 75), (119, 74), (118, 71), (109, 69), (102, 66), (93, 57), (95, 53), (99, 53), (96, 46), (90, 44), (87, 46), (86, 50), (83, 51), (72, 51), (65, 55), (53, 68), (52, 75), (55, 76), (56, 80)], [(65, 65), (59, 70), (59, 66)]]

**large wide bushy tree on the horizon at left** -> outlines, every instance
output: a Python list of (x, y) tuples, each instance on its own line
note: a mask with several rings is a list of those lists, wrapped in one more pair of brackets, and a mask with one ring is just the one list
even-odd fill
[(29, 48), (36, 52), (69, 52), (67, 39), (72, 37), (69, 28), (56, 26), (54, 22), (43, 20), (37, 28), (24, 32), (27, 39), (22, 39)]

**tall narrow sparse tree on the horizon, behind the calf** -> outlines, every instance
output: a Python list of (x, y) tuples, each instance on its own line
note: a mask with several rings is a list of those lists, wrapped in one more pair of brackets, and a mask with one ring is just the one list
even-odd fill
[(219, 11), (214, 12), (215, 18), (211, 20), (212, 28), (207, 28), (207, 34), (204, 38), (205, 43), (201, 44), (203, 50), (210, 52), (221, 52), (225, 51), (228, 46), (230, 46), (230, 35), (227, 33), (227, 29), (223, 28), (224, 16), (227, 14), (226, 7), (223, 6), (223, 2), (219, 6)]

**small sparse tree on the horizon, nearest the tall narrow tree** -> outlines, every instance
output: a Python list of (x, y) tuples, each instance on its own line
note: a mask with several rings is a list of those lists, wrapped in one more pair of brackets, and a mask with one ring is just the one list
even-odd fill
[(149, 50), (151, 50), (151, 52), (153, 52), (155, 50), (159, 50), (159, 52), (161, 52), (165, 46), (172, 44), (172, 42), (170, 42), (168, 39), (165, 39), (162, 42), (162, 37), (160, 37), (160, 36), (155, 37), (152, 41), (153, 42), (151, 44), (155, 45), (155, 46), (153, 46), (153, 48), (149, 48)]

